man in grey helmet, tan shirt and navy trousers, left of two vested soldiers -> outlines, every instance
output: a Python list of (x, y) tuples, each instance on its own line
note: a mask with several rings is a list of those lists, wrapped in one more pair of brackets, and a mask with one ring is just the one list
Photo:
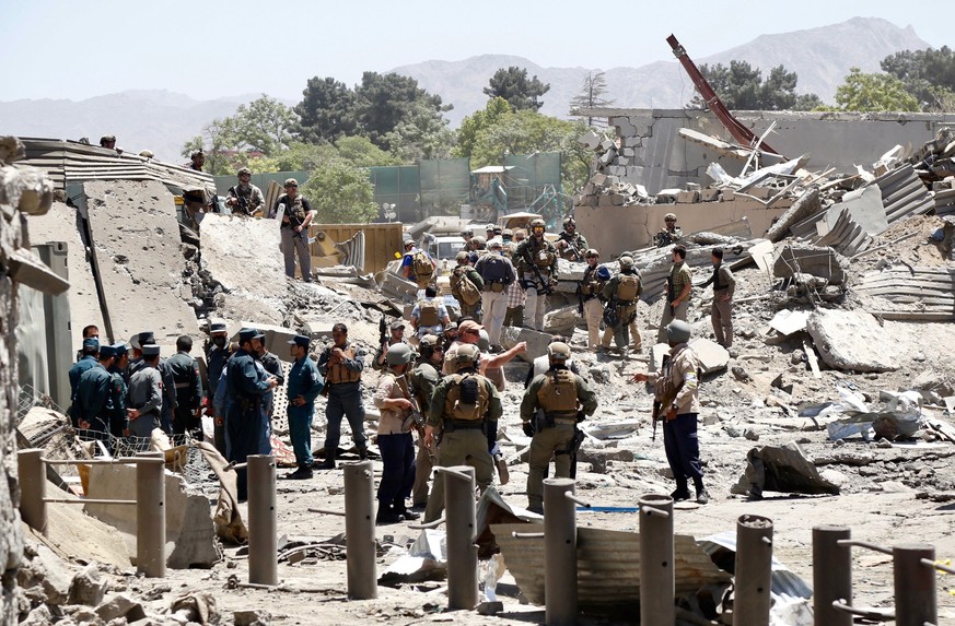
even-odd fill
[(415, 353), (398, 343), (385, 355), (388, 368), (378, 379), (374, 392), (375, 408), (381, 411), (377, 444), (382, 454), (382, 480), (378, 483), (378, 511), (375, 523), (396, 523), (418, 519), (405, 500), (415, 484), (415, 441), (411, 387), (406, 376)]

